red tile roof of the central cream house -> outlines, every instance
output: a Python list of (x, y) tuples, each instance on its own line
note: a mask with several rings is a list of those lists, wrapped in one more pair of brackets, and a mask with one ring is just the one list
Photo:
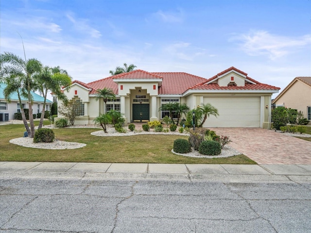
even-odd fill
[[(230, 70), (235, 70), (246, 76), (245, 86), (219, 86), (217, 83), (208, 83), (209, 81), (217, 79), (217, 77), (225, 74)], [(79, 83), (87, 88), (92, 88), (90, 94), (95, 94), (97, 89), (104, 87), (111, 88), (116, 95), (118, 95), (118, 83), (114, 79), (161, 79), (162, 85), (158, 88), (158, 94), (162, 95), (182, 95), (187, 90), (279, 90), (279, 87), (259, 83), (258, 81), (250, 78), (247, 74), (235, 67), (230, 67), (210, 79), (205, 79), (199, 76), (184, 72), (147, 72), (144, 70), (134, 70), (128, 73), (121, 73), (118, 75), (110, 76), (101, 80), (91, 83), (82, 83), (80, 81), (73, 81)], [(247, 82), (247, 80), (256, 83)], [(208, 83), (208, 84), (207, 84)]]

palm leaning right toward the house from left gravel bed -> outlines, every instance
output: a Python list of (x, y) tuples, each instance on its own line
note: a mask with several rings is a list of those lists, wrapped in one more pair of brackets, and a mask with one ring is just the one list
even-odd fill
[[(52, 91), (57, 95), (58, 99), (64, 100), (66, 96), (60, 91), (62, 86), (69, 86), (71, 83), (71, 77), (66, 70), (62, 70), (60, 67), (43, 67), (39, 74), (34, 76), (36, 81), (35, 89), (44, 97), (43, 108), (38, 129), (42, 128), (45, 106), (47, 100), (48, 91)], [(67, 89), (68, 90), (68, 89)]]

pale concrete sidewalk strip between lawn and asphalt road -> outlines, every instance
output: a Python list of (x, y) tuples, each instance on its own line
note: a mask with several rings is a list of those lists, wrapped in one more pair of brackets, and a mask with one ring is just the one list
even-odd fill
[(0, 162), (0, 177), (12, 176), (311, 182), (311, 165)]

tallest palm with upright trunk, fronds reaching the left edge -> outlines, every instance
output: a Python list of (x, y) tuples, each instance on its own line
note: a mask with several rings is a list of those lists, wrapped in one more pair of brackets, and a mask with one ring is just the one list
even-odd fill
[(42, 64), (35, 58), (27, 60), (25, 56), (25, 60), (23, 60), (11, 52), (4, 52), (3, 54), (0, 54), (0, 67), (1, 78), (13, 75), (22, 78), (22, 82), (26, 85), (25, 89), (28, 97), (30, 137), (33, 138), (35, 136), (35, 124), (31, 90), (34, 87), (33, 75), (41, 71)]

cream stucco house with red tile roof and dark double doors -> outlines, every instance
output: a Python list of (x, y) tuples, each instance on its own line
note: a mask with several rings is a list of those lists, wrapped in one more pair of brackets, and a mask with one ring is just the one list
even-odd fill
[[(78, 101), (75, 124), (93, 124), (104, 113), (104, 101), (96, 100), (96, 90), (111, 88), (116, 100), (109, 100), (106, 111), (124, 114), (125, 122), (153, 121), (169, 115), (159, 108), (168, 102), (186, 103), (190, 109), (211, 103), (219, 116), (210, 116), (204, 127), (269, 127), (271, 96), (279, 87), (259, 83), (243, 71), (230, 67), (210, 79), (183, 72), (147, 72), (134, 70), (91, 83), (73, 81), (69, 100)], [(58, 101), (58, 106), (62, 102)]]

